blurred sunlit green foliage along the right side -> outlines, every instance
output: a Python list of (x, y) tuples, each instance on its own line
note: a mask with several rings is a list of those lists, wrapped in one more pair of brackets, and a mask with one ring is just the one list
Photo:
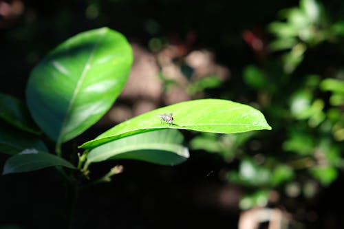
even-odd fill
[(247, 90), (257, 95), (252, 104), (272, 123), (270, 133), (204, 134), (191, 141), (191, 149), (218, 153), (232, 165), (224, 179), (246, 188), (242, 209), (267, 206), (275, 191), (285, 206), (290, 198), (310, 199), (344, 168), (343, 66), (329, 75), (330, 59), (320, 71), (308, 65), (323, 43), (337, 50), (344, 44), (343, 21), (328, 15), (315, 0), (281, 10), (283, 21), (268, 25), (274, 38), (267, 54), (243, 69)]

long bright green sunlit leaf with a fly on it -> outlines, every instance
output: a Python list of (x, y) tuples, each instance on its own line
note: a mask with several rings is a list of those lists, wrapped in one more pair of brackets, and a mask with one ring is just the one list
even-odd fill
[[(173, 124), (162, 122), (158, 117), (162, 113), (173, 113)], [(80, 147), (90, 149), (128, 135), (162, 128), (213, 133), (240, 133), (271, 129), (263, 114), (248, 105), (219, 99), (192, 100), (131, 118)]]

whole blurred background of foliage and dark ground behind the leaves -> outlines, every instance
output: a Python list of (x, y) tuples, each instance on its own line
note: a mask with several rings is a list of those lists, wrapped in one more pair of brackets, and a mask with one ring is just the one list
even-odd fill
[[(70, 146), (197, 98), (256, 107), (272, 131), (185, 132), (191, 158), (175, 167), (98, 164), (95, 176), (125, 171), (83, 190), (74, 228), (343, 227), (343, 1), (0, 0), (1, 91), (24, 100), (47, 52), (103, 26), (127, 37), (133, 68), (114, 107)], [(53, 169), (0, 177), (0, 228), (63, 228), (66, 195)]]

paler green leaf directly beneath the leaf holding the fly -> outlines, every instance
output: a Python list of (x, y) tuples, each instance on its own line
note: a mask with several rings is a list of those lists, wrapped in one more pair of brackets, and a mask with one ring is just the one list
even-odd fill
[(188, 149), (181, 145), (182, 141), (182, 134), (175, 129), (131, 135), (92, 149), (86, 163), (132, 159), (163, 165), (180, 164), (189, 157)]

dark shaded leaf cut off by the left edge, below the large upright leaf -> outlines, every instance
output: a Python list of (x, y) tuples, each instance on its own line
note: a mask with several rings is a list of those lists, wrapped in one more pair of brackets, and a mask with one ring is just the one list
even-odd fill
[(30, 133), (40, 133), (32, 120), (28, 108), (21, 100), (8, 94), (0, 93), (0, 118), (14, 127)]

